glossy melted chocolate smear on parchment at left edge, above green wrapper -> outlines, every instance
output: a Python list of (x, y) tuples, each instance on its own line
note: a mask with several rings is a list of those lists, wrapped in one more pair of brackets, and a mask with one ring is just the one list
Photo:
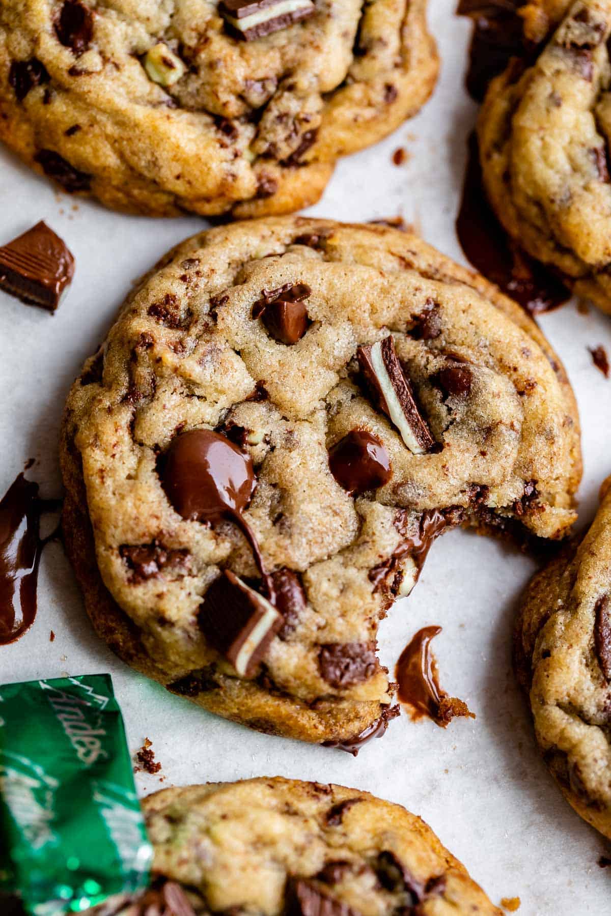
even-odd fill
[(40, 517), (60, 505), (58, 499), (41, 499), (38, 484), (24, 474), (0, 501), (0, 646), (16, 642), (34, 623), (40, 556), (58, 537), (56, 529), (40, 538)]

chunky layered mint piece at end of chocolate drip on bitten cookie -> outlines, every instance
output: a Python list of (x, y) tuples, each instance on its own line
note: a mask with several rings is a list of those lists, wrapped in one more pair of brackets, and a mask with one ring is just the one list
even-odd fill
[(267, 598), (230, 570), (214, 580), (198, 615), (205, 638), (243, 678), (256, 671), (282, 622)]

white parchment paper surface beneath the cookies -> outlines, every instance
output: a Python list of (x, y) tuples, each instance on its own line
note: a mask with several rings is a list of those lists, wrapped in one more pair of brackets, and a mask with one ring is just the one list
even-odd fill
[[(453, 0), (430, 2), (442, 55), (431, 103), (384, 143), (344, 159), (311, 213), (363, 221), (400, 213), (424, 239), (464, 261), (454, 216), (475, 104), (463, 88), (470, 26), (453, 16), (453, 7)], [(398, 147), (409, 154), (400, 167), (391, 161)], [(75, 202), (4, 151), (0, 201), (0, 244), (45, 219), (76, 257), (74, 281), (54, 316), (0, 293), (0, 494), (32, 457), (37, 463), (29, 476), (43, 496), (60, 496), (58, 429), (71, 380), (104, 339), (132, 282), (203, 221), (139, 219)], [(594, 308), (582, 314), (570, 303), (540, 324), (579, 401), (585, 525), (611, 473), (611, 380), (595, 369), (587, 347), (604, 344), (611, 354), (611, 319)], [(540, 761), (510, 667), (516, 603), (533, 569), (518, 552), (467, 532), (435, 543), (413, 594), (381, 627), (381, 658), (392, 670), (417, 629), (440, 624), (433, 645), (442, 686), (466, 700), (477, 718), (443, 730), (403, 714), (358, 758), (249, 732), (130, 671), (94, 637), (59, 544), (45, 550), (35, 626), (15, 645), (0, 647), (0, 682), (110, 671), (130, 747), (136, 751), (148, 736), (163, 766), (158, 776), (138, 774), (143, 793), (275, 774), (344, 783), (420, 813), (492, 900), (521, 898), (520, 916), (602, 916), (611, 912), (611, 868), (597, 860), (608, 847), (562, 800)]]

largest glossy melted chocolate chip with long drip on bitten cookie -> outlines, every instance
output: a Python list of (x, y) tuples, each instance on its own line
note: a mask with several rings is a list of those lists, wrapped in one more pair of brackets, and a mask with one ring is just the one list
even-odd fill
[(182, 518), (212, 526), (226, 518), (235, 522), (250, 544), (268, 594), (273, 594), (255, 533), (242, 515), (256, 487), (250, 455), (219, 432), (182, 432), (172, 440), (160, 476), (166, 496)]

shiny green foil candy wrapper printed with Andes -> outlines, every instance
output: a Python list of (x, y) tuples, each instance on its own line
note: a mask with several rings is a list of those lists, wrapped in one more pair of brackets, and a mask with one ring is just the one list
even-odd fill
[(0, 898), (82, 912), (145, 888), (152, 855), (110, 675), (0, 686)]

